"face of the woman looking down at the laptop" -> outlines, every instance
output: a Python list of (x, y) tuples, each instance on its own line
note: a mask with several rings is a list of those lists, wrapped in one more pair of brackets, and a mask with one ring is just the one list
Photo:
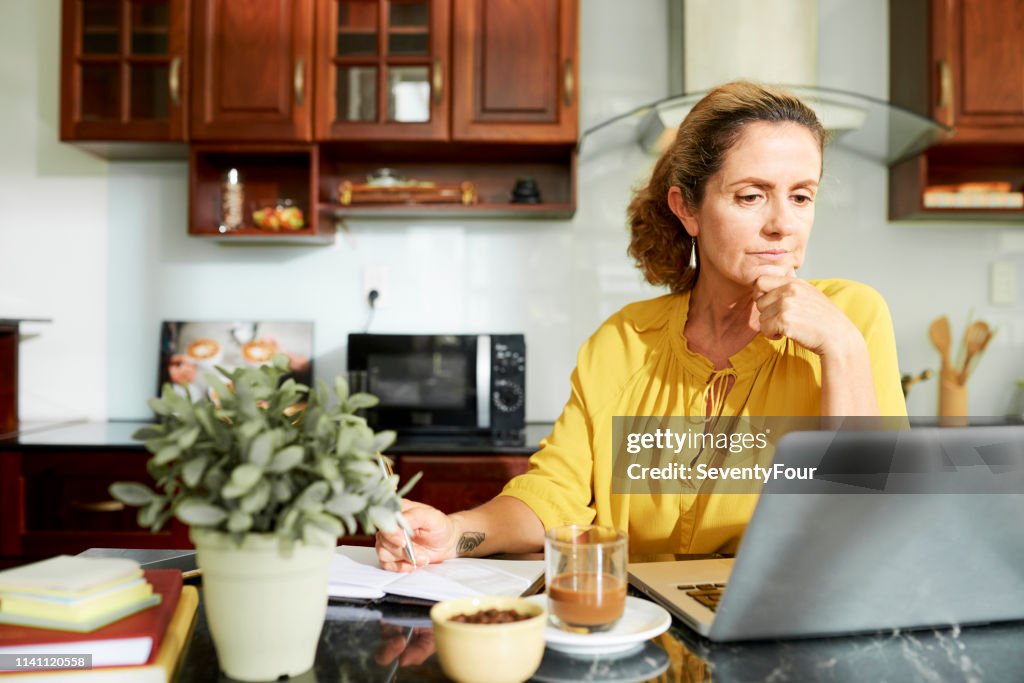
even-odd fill
[(673, 210), (678, 206), (686, 231), (697, 239), (699, 278), (750, 286), (763, 274), (799, 268), (820, 174), (821, 153), (810, 130), (796, 123), (748, 124), (708, 179), (695, 211), (673, 202), (670, 193)]

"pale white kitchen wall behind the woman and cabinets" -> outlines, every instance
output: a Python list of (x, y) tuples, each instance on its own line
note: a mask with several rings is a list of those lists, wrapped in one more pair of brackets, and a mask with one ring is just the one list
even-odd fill
[[(570, 221), (351, 220), (327, 248), (190, 239), (183, 164), (106, 164), (55, 141), (58, 6), (0, 0), (0, 199), (30, 209), (0, 223), (0, 316), (54, 317), (23, 345), (24, 417), (146, 415), (161, 319), (311, 319), (317, 375), (333, 375), (366, 323), (364, 269), (383, 267), (373, 331), (525, 332), (527, 419), (551, 420), (580, 343), (624, 303), (657, 294), (625, 254), (630, 187), (650, 160), (611, 133), (584, 150)], [(818, 15), (819, 83), (886, 97), (885, 0), (820, 0)], [(664, 0), (581, 3), (582, 128), (666, 93), (665, 16)], [(1000, 329), (971, 410), (1000, 414), (1024, 376), (1024, 316), (986, 303), (987, 268), (1024, 259), (1012, 227), (890, 224), (886, 186), (882, 166), (829, 153), (805, 274), (882, 291), (906, 371), (937, 365), (929, 321), (949, 313), (958, 332), (973, 306)], [(934, 414), (935, 382), (909, 404)]]

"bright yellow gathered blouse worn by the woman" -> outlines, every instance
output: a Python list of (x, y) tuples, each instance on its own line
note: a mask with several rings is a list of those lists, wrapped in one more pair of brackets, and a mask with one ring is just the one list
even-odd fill
[[(906, 416), (896, 340), (885, 300), (845, 280), (812, 281), (867, 343), (879, 407)], [(817, 416), (821, 362), (787, 338), (758, 336), (716, 372), (683, 337), (689, 294), (630, 304), (580, 349), (571, 393), (529, 470), (502, 492), (528, 505), (545, 528), (597, 523), (627, 529), (630, 554), (735, 552), (757, 495), (612, 494), (612, 417), (702, 416), (711, 385), (734, 377), (725, 416)], [(711, 391), (714, 398), (720, 392)]]

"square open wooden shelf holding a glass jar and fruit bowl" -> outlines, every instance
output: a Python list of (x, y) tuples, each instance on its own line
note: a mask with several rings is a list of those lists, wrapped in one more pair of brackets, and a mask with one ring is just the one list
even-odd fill
[[(243, 184), (243, 225), (220, 227), (221, 185), (229, 169)], [(317, 178), (314, 145), (193, 145), (189, 152), (188, 233), (224, 244), (307, 244), (334, 242), (333, 226), (321, 226), (313, 188)], [(269, 230), (257, 227), (253, 211), (290, 200), (302, 211), (305, 227)]]

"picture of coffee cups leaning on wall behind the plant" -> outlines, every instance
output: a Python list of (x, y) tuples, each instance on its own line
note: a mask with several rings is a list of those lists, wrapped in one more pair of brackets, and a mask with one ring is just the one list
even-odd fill
[[(165, 321), (160, 330), (158, 393), (166, 382), (196, 400), (209, 390), (205, 375), (216, 367), (234, 370), (288, 355), (296, 382), (310, 385), (313, 376), (313, 324), (296, 322)], [(187, 389), (186, 389), (187, 387)]]

